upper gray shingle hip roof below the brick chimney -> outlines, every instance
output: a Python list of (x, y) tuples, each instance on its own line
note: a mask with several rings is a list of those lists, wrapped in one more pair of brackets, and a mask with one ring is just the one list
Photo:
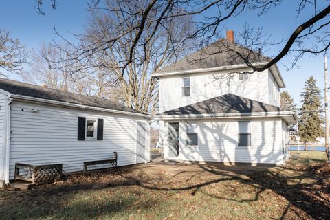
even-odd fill
[(168, 65), (160, 69), (155, 74), (245, 64), (244, 59), (236, 52), (243, 54), (243, 57), (248, 58), (250, 63), (270, 61), (270, 58), (267, 56), (249, 50), (242, 45), (230, 43), (230, 41), (221, 39), (197, 52), (181, 58), (173, 65)]

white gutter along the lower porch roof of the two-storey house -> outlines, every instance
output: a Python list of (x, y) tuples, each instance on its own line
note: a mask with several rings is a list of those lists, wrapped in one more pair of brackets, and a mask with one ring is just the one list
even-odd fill
[(211, 118), (260, 118), (260, 117), (293, 117), (297, 120), (293, 111), (274, 112), (254, 112), (254, 113), (215, 113), (215, 114), (185, 114), (185, 115), (155, 115), (155, 120), (175, 120), (175, 119), (211, 119)]

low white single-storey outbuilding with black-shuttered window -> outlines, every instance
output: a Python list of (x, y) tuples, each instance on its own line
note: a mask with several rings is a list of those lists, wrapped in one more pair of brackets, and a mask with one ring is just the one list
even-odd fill
[(15, 163), (63, 164), (109, 159), (118, 166), (149, 162), (149, 115), (109, 100), (0, 78), (0, 180)]

